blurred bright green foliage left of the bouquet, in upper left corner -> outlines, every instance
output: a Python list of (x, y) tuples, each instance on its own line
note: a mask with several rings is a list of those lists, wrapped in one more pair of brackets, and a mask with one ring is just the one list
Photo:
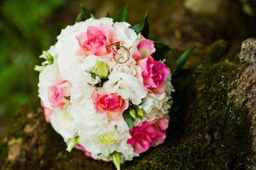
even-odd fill
[[(0, 117), (16, 109), (38, 91), (40, 52), (50, 47), (57, 31), (48, 23), (52, 13), (66, 1), (3, 1), (0, 7)], [(53, 35), (53, 36), (52, 36)]]

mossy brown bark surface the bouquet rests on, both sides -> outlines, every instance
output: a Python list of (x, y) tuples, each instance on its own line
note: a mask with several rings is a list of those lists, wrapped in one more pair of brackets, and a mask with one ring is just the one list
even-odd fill
[[(184, 133), (169, 126), (163, 145), (150, 147), (122, 169), (253, 169), (256, 88), (250, 59), (255, 49), (255, 40), (245, 41), (241, 63), (239, 47), (228, 48), (223, 40), (195, 52), (187, 67), (198, 67), (201, 74), (174, 79), (176, 89), (190, 81), (187, 101), (178, 112)], [(1, 169), (114, 169), (65, 148), (35, 99), (18, 111), (1, 137)]]

